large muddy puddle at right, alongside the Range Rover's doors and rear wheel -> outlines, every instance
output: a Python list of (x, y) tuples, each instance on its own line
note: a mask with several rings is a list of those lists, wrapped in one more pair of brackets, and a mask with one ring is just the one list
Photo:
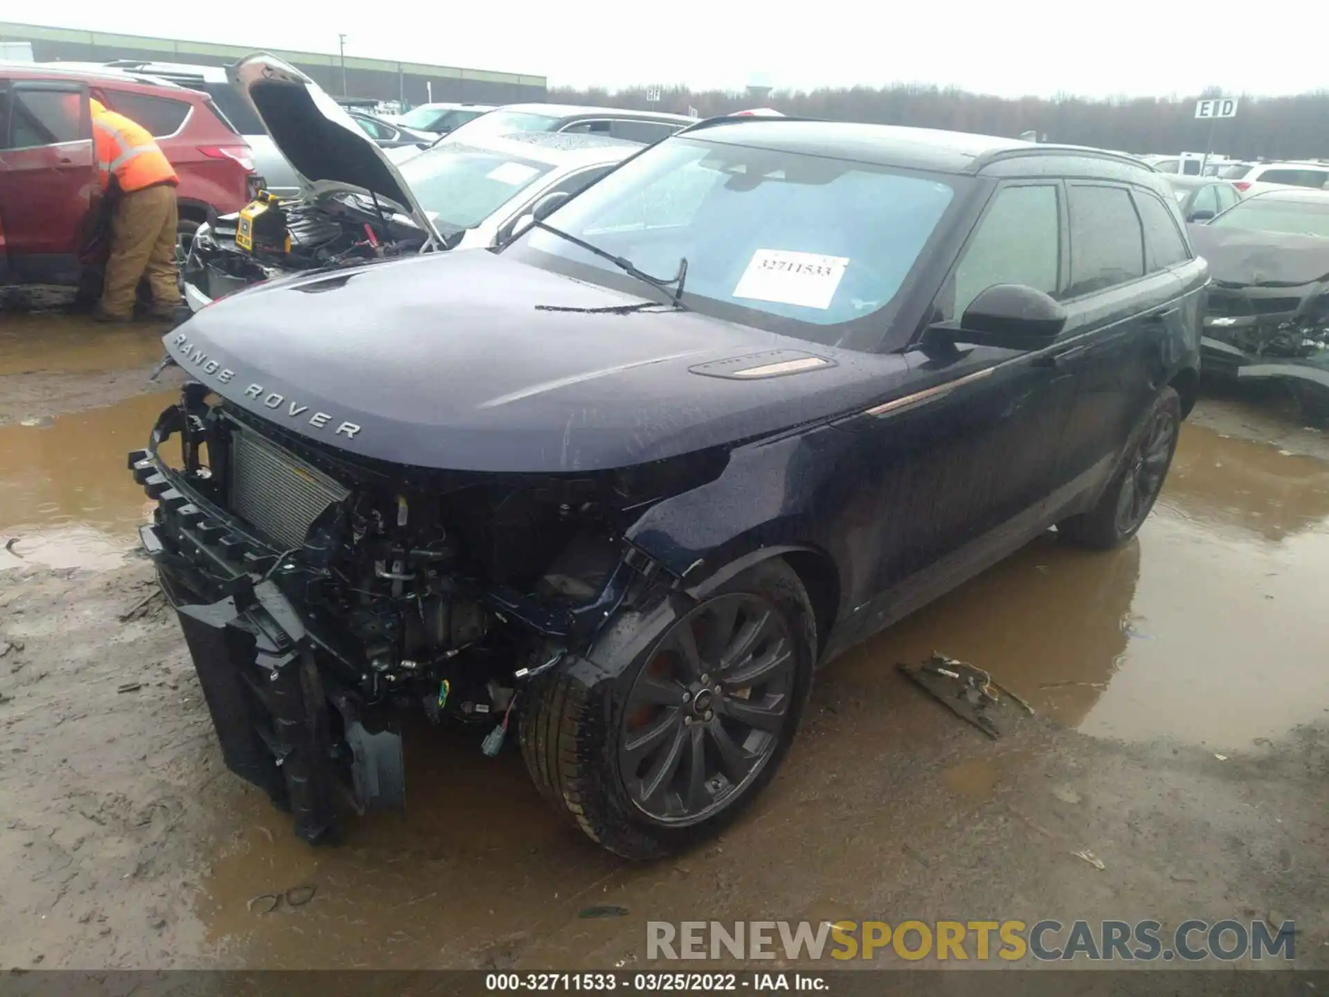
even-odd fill
[(1324, 717), (1326, 565), (1329, 464), (1187, 425), (1131, 545), (1045, 537), (836, 667), (937, 650), (1086, 734), (1237, 750)]

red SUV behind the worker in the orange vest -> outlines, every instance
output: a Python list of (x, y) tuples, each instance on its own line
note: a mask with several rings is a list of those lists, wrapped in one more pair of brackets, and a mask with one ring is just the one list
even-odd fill
[(0, 300), (19, 287), (100, 284), (89, 97), (152, 132), (175, 167), (181, 250), (209, 209), (238, 211), (254, 194), (249, 145), (206, 93), (113, 70), (0, 62)]

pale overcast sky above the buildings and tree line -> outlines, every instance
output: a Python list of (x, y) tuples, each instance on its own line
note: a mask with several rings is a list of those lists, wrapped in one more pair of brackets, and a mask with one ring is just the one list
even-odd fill
[[(1304, 7), (1304, 11), (1298, 11)], [(1322, 7), (1248, 4), (1221, 12), (1155, 0), (735, 4), (413, 3), (344, 0), (241, 4), (92, 4), (24, 11), (24, 20), (89, 31), (198, 39), (255, 48), (538, 73), (550, 85), (687, 84), (742, 88), (956, 85), (1007, 97), (1301, 93), (1329, 85), (1314, 43), (1292, 55), (1293, 25), (1322, 24)], [(169, 17), (162, 17), (163, 11)], [(388, 12), (400, 11), (391, 19)], [(230, 19), (223, 11), (233, 11)], [(869, 13), (870, 12), (870, 13)], [(17, 16), (12, 11), (9, 16)], [(396, 21), (396, 23), (393, 23)]]

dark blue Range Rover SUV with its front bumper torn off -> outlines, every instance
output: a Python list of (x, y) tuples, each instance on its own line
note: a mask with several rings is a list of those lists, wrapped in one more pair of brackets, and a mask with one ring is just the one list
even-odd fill
[(166, 338), (195, 380), (130, 467), (227, 764), (323, 840), (339, 784), (401, 799), (423, 709), (517, 739), (614, 852), (712, 833), (819, 663), (1049, 528), (1139, 529), (1208, 282), (1160, 179), (715, 120), (497, 253), (198, 312)]

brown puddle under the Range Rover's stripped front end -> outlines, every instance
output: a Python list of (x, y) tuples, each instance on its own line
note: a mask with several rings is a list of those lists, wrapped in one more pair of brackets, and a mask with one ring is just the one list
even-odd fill
[[(405, 747), (405, 812), (350, 820), (338, 848), (310, 848), (260, 792), (237, 790), (238, 830), (195, 901), (211, 945), (287, 969), (464, 965), (575, 919), (622, 869), (558, 820), (518, 752), (490, 760), (477, 736), (424, 720)], [(296, 887), (316, 893), (267, 913), (256, 900)]]

